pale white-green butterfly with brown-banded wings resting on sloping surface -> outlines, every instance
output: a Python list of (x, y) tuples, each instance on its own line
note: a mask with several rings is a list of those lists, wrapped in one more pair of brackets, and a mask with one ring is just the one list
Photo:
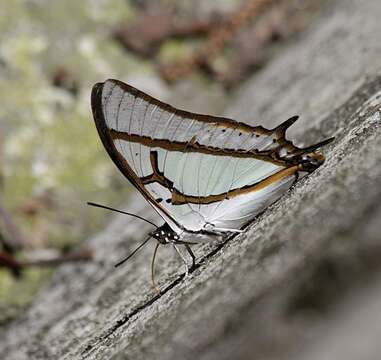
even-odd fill
[(194, 265), (191, 244), (241, 232), (322, 165), (319, 149), (333, 140), (299, 148), (285, 136), (298, 116), (266, 129), (179, 110), (113, 79), (94, 85), (91, 105), (111, 159), (165, 221), (150, 237), (173, 245), (187, 271), (178, 245)]

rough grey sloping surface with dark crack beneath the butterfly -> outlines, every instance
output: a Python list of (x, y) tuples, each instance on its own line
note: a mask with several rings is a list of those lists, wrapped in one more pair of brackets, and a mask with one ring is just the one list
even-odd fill
[[(228, 111), (268, 127), (300, 114), (299, 143), (336, 137), (326, 163), (243, 234), (198, 249), (187, 278), (163, 251), (162, 295), (152, 247), (112, 270), (149, 230), (116, 218), (88, 242), (93, 264), (62, 266), (1, 330), (0, 358), (380, 358), (381, 2), (333, 3)], [(146, 211), (138, 195), (129, 208)]]

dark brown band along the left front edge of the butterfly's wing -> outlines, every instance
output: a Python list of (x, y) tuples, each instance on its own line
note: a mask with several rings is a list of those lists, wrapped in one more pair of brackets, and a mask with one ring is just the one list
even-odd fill
[(115, 148), (114, 142), (111, 138), (110, 131), (107, 128), (106, 121), (103, 114), (102, 109), (102, 89), (104, 83), (97, 83), (93, 86), (91, 92), (91, 109), (93, 112), (93, 117), (95, 121), (96, 128), (98, 130), (98, 134), (101, 138), (102, 144), (105, 147), (107, 153), (110, 155), (114, 164), (118, 167), (121, 173), (134, 185), (139, 192), (144, 196), (144, 198), (155, 208), (158, 208), (161, 212), (163, 212), (168, 218), (170, 218), (174, 224), (176, 224), (179, 228), (183, 229), (181, 226), (169, 213), (163, 208), (159, 203), (155, 201), (155, 199), (151, 196), (151, 194), (144, 188), (143, 184), (139, 177), (134, 173), (131, 167), (128, 165), (127, 161), (124, 157), (118, 152)]

